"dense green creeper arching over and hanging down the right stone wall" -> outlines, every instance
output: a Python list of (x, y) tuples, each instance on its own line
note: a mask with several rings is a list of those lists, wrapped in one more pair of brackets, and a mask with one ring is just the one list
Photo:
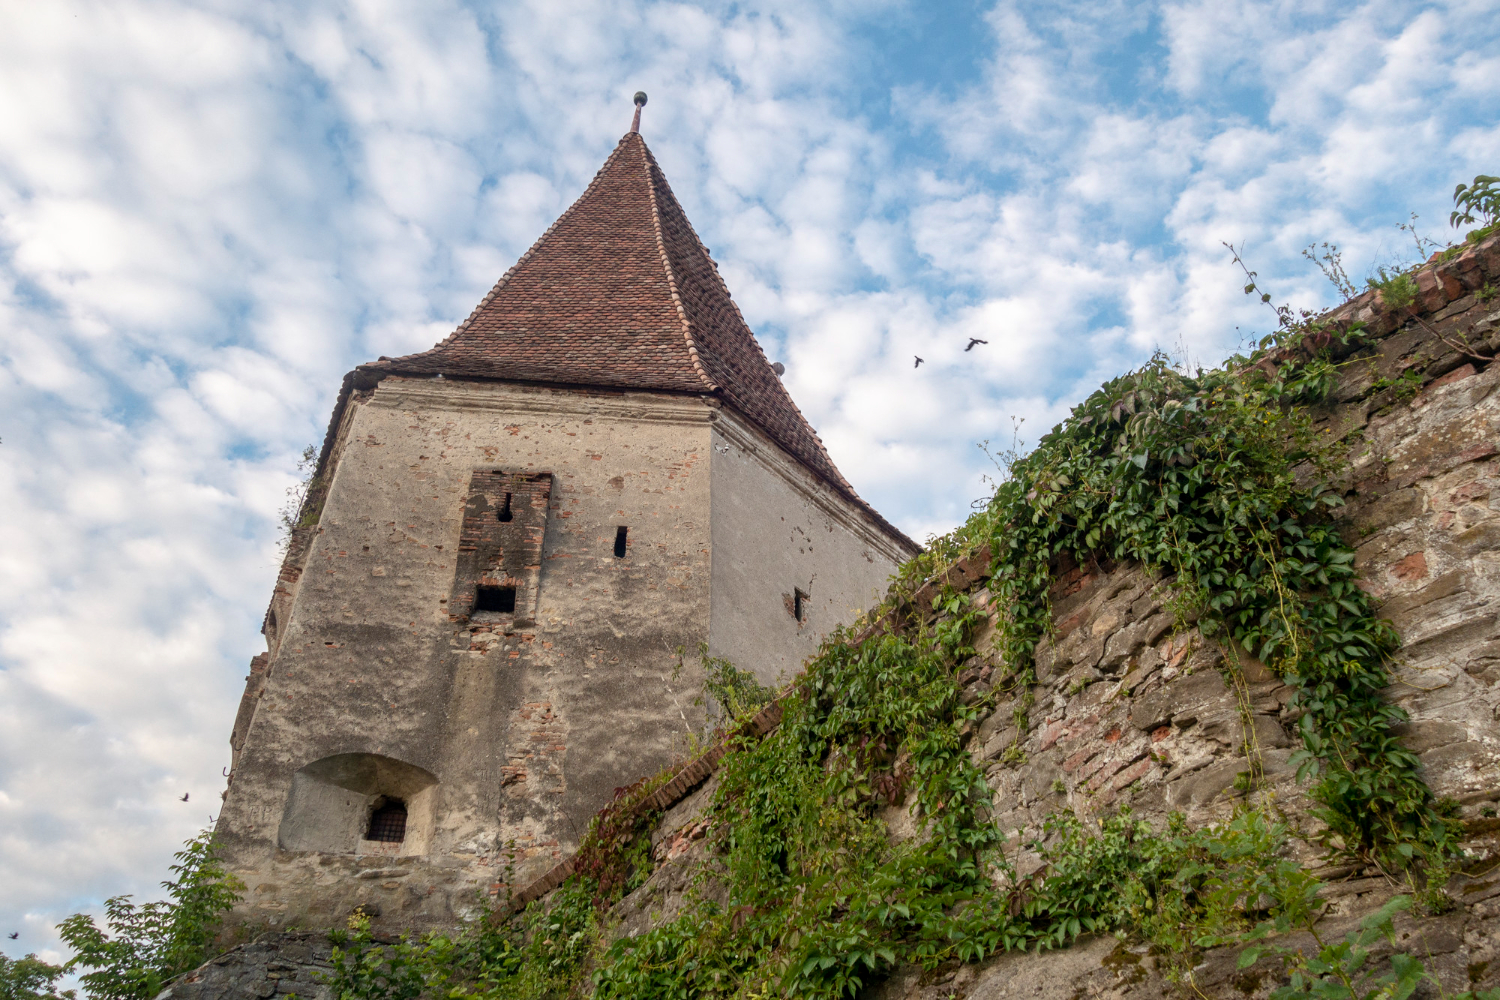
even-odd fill
[(994, 552), (1005, 661), (1029, 676), (1056, 559), (1174, 574), (1204, 631), (1222, 630), (1298, 687), (1298, 760), (1329, 844), (1406, 867), (1442, 853), (1450, 829), (1392, 733), (1404, 714), (1382, 697), (1400, 637), (1356, 586), (1354, 552), (1330, 520), (1342, 498), (1306, 405), (1323, 399), (1334, 366), (1246, 361), (1188, 376), (1154, 358), (1012, 465), (969, 528)]

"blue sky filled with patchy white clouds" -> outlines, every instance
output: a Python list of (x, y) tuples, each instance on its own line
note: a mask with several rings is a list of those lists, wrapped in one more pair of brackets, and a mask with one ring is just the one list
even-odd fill
[(1266, 333), (1221, 240), (1330, 304), (1302, 247), (1362, 280), (1500, 172), (1492, 0), (0, 0), (6, 954), (152, 892), (214, 813), (340, 375), (468, 315), (638, 88), (794, 397), (916, 537), (1012, 418)]

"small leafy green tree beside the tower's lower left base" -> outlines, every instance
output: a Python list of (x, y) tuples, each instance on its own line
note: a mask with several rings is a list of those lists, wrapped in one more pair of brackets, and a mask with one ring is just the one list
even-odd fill
[(75, 955), (64, 972), (92, 969), (78, 979), (93, 1000), (152, 1000), (174, 976), (208, 960), (224, 913), (244, 885), (219, 862), (213, 834), (188, 841), (164, 882), (166, 900), (136, 906), (130, 897), (105, 901), (105, 934), (93, 918), (75, 913), (57, 931)]

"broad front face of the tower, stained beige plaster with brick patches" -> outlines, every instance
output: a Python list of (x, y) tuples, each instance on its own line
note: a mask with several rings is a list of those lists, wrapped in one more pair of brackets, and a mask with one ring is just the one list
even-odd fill
[[(702, 717), (675, 669), (710, 637), (714, 414), (441, 379), (351, 400), (237, 726), (240, 922), (448, 922), (669, 763)], [(399, 843), (369, 820), (392, 804)]]

